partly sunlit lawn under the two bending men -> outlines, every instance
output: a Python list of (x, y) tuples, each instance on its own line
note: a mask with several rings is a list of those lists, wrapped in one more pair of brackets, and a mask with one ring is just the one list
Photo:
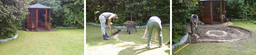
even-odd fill
[[(163, 42), (170, 40), (170, 27), (162, 27)], [(113, 28), (116, 32), (117, 28)], [(117, 38), (111, 36), (111, 40), (103, 40), (101, 35), (101, 27), (86, 25), (86, 54), (85, 55), (170, 55), (170, 44), (158, 48), (157, 42), (151, 41), (151, 49), (146, 49), (147, 40), (142, 40), (145, 28), (139, 28), (138, 32), (132, 29), (132, 34), (126, 32), (127, 29), (122, 29)], [(156, 30), (154, 30), (156, 31)], [(152, 36), (155, 36), (155, 32)], [(107, 34), (111, 35), (110, 29), (107, 27)], [(153, 39), (153, 37), (152, 37)], [(156, 39), (158, 41), (158, 37)], [(139, 45), (131, 45), (139, 44)]]

